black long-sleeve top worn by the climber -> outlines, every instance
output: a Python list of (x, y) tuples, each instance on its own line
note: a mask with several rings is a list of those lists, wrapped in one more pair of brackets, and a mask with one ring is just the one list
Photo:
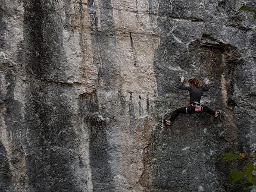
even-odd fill
[(201, 96), (203, 95), (203, 92), (207, 92), (209, 90), (208, 84), (204, 84), (204, 86), (201, 87), (191, 87), (191, 86), (185, 86), (184, 82), (180, 82), (179, 89), (188, 90), (190, 95), (189, 102), (200, 102)]

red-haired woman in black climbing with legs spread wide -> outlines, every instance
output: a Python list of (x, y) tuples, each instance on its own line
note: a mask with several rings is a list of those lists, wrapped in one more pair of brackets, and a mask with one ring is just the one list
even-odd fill
[(209, 81), (205, 81), (205, 86), (200, 86), (199, 78), (191, 78), (189, 81), (189, 86), (184, 85), (184, 77), (180, 77), (179, 89), (188, 90), (190, 93), (190, 101), (189, 105), (176, 109), (171, 113), (171, 118), (166, 121), (167, 125), (171, 125), (174, 119), (177, 118), (179, 114), (198, 114), (201, 112), (207, 112), (214, 117), (218, 117), (220, 115), (220, 111), (214, 112), (213, 109), (208, 108), (206, 105), (201, 105), (200, 100), (203, 92), (207, 92), (209, 90), (208, 83)]

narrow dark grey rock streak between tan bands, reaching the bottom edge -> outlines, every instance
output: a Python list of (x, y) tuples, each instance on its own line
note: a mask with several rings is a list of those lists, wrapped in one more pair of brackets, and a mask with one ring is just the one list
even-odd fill
[(110, 168), (110, 146), (107, 140), (106, 122), (99, 118), (98, 99), (95, 92), (79, 96), (80, 115), (89, 132), (89, 158), (93, 191), (114, 191)]

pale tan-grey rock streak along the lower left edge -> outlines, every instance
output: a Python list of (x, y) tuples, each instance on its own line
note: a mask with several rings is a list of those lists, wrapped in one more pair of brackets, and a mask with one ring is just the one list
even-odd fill
[[(25, 154), (24, 154), (24, 148), (25, 145), (25, 136), (26, 136), (26, 130), (24, 130), (24, 124), (23, 124), (23, 116), (21, 115), (21, 108), (22, 105), (14, 98), (14, 87), (15, 87), (15, 73), (13, 70), (7, 70), (5, 71), (5, 79), (4, 79), (4, 86), (6, 90), (6, 95), (2, 95), (1, 98), (3, 99), (4, 103), (2, 103), (1, 111), (5, 112), (4, 115), (4, 122), (5, 125), (1, 126), (1, 133), (2, 136), (7, 136), (7, 138), (2, 139), (4, 144), (7, 144), (5, 149), (8, 149), (7, 155), (9, 160), (7, 160), (7, 163), (10, 162), (10, 168), (11, 172), (14, 175), (13, 176), (13, 185), (16, 185), (17, 187), (24, 187), (22, 180), (24, 180), (25, 177), (25, 171), (24, 167), (25, 164)], [(6, 127), (5, 127), (6, 126)], [(6, 130), (3, 130), (5, 129)], [(4, 135), (4, 132), (7, 132), (7, 135)], [(10, 142), (11, 141), (11, 142)], [(10, 143), (9, 143), (10, 142)], [(19, 169), (19, 171), (17, 171)]]

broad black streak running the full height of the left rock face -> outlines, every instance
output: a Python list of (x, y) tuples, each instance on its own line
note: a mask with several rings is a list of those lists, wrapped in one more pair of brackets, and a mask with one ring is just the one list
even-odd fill
[[(24, 0), (23, 6), (24, 41), (21, 46), (26, 52), (20, 56), (23, 56), (21, 61), (31, 82), (25, 106), (29, 190), (76, 191), (71, 169), (76, 158), (70, 150), (77, 149), (79, 136), (73, 129), (71, 103), (68, 102), (74, 90), (58, 86), (65, 82), (61, 68), (66, 61), (57, 2)], [(70, 22), (68, 15), (67, 22)]]

